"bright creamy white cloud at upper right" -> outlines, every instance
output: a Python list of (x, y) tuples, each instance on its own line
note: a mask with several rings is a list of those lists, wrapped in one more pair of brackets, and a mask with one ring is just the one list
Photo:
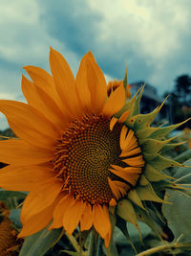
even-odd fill
[(145, 59), (145, 65), (154, 67), (147, 81), (157, 85), (160, 93), (166, 85), (172, 89), (180, 70), (190, 72), (183, 63), (178, 63), (174, 70), (169, 66), (185, 50), (182, 35), (190, 35), (190, 0), (91, 0), (89, 3), (104, 17), (99, 23), (102, 44), (113, 43), (114, 51), (129, 48), (134, 53), (127, 59), (129, 66), (136, 57)]

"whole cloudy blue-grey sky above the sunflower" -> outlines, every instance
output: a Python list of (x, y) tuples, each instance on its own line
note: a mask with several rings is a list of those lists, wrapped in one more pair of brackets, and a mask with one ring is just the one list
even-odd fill
[(190, 10), (191, 0), (0, 0), (0, 99), (24, 101), (22, 67), (49, 71), (50, 46), (74, 74), (89, 50), (108, 80), (122, 79), (128, 62), (129, 81), (161, 95), (191, 75)]

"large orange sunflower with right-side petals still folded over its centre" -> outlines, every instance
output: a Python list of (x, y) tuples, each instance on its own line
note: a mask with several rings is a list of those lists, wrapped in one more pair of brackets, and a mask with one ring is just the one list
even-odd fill
[[(22, 77), (28, 104), (0, 101), (0, 110), (18, 138), (0, 142), (0, 186), (29, 191), (22, 207), (27, 237), (45, 228), (62, 227), (72, 235), (94, 228), (110, 244), (110, 216), (138, 227), (144, 201), (163, 202), (152, 183), (168, 178), (160, 171), (181, 166), (160, 155), (172, 147), (162, 138), (179, 125), (152, 128), (161, 106), (141, 115), (143, 89), (127, 99), (127, 82), (107, 95), (105, 78), (92, 53), (85, 55), (74, 75), (51, 48), (52, 75), (26, 66), (32, 81)], [(125, 80), (126, 81), (126, 80)], [(166, 183), (171, 184), (171, 183)], [(170, 185), (169, 185), (170, 186)]]

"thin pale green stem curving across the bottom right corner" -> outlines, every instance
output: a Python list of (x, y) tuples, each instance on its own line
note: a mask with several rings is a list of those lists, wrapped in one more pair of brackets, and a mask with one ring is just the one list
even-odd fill
[(190, 243), (184, 243), (184, 244), (165, 244), (165, 245), (159, 245), (157, 247), (142, 251), (137, 254), (137, 256), (146, 256), (146, 255), (151, 255), (153, 253), (163, 251), (163, 250), (168, 250), (168, 249), (174, 249), (174, 248), (186, 248), (190, 247)]

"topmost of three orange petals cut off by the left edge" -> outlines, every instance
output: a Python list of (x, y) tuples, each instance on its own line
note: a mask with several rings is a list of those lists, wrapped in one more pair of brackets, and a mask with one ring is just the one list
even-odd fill
[(7, 116), (15, 134), (29, 144), (47, 149), (58, 137), (56, 128), (30, 105), (1, 100), (0, 111)]

